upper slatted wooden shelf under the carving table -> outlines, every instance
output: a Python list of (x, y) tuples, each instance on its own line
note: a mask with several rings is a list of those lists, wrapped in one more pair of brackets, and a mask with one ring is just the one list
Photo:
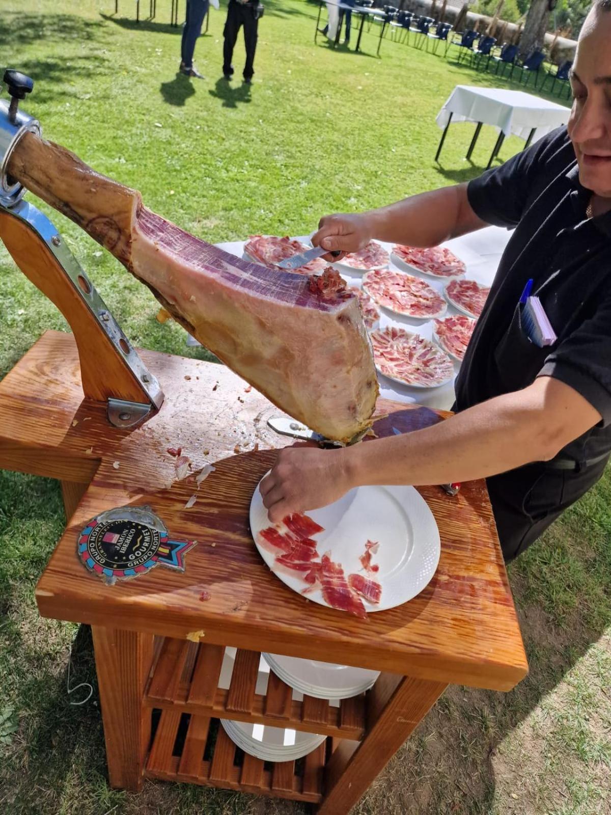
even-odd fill
[(366, 722), (366, 694), (342, 699), (292, 698), (292, 689), (270, 671), (266, 694), (257, 694), (259, 651), (238, 649), (229, 689), (218, 687), (225, 649), (222, 645), (165, 637), (160, 644), (144, 696), (146, 707), (178, 711), (207, 719), (235, 719), (272, 727), (290, 727), (336, 738), (358, 740)]

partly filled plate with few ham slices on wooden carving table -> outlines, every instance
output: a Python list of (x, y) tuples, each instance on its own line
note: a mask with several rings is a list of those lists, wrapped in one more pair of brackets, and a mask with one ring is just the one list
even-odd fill
[(250, 528), (284, 584), (361, 619), (419, 594), (441, 552), (433, 513), (414, 487), (356, 487), (322, 509), (272, 524), (257, 486)]

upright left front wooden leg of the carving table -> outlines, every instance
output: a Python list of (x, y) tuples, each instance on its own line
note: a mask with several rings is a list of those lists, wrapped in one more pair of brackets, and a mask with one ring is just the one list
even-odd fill
[(153, 637), (99, 625), (91, 626), (91, 632), (110, 786), (137, 792), (151, 738), (151, 716), (143, 710), (143, 695)]

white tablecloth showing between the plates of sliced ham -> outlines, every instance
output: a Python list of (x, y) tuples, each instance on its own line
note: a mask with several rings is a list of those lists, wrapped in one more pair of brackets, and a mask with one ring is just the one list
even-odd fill
[[(470, 235), (464, 235), (453, 240), (448, 240), (442, 246), (447, 246), (451, 249), (467, 266), (465, 277), (470, 280), (477, 280), (486, 286), (490, 286), (494, 280), (499, 260), (505, 249), (511, 232), (499, 227), (486, 227), (477, 232), (472, 232)], [(309, 243), (310, 236), (298, 236), (297, 240), (304, 243)], [(381, 241), (380, 241), (381, 243)], [(244, 253), (244, 241), (235, 240), (231, 243), (217, 244), (219, 249), (225, 249), (226, 252), (236, 255), (241, 258)], [(384, 244), (389, 252), (392, 249), (391, 244)], [(390, 265), (393, 267), (392, 263)], [(415, 276), (418, 276), (414, 272)], [(341, 276), (351, 286), (358, 286), (360, 288), (363, 275), (354, 272), (354, 274), (346, 274), (344, 269), (341, 270)], [(443, 281), (433, 280), (430, 277), (424, 277), (424, 280), (430, 284), (433, 289), (442, 293)], [(402, 317), (394, 315), (390, 311), (382, 311), (380, 319), (380, 328), (385, 328), (387, 325), (397, 325), (400, 328), (407, 328), (408, 331), (418, 333), (422, 337), (431, 340), (433, 338), (433, 321), (410, 319), (409, 317)], [(458, 312), (452, 306), (447, 307), (447, 315), (457, 314)], [(455, 363), (455, 372), (459, 371), (459, 364)], [(454, 381), (448, 382), (447, 385), (442, 385), (440, 388), (411, 388), (407, 385), (400, 385), (398, 382), (387, 379), (380, 375), (380, 396), (385, 399), (393, 399), (395, 402), (404, 403), (417, 403), (425, 405), (426, 407), (434, 407), (438, 410), (449, 410), (454, 403)]]

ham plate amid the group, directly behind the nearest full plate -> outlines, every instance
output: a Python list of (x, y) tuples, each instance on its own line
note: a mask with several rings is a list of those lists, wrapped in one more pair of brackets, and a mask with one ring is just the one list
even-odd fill
[(363, 276), (363, 289), (394, 314), (433, 319), (446, 313), (443, 297), (422, 278), (393, 269), (372, 269)]

